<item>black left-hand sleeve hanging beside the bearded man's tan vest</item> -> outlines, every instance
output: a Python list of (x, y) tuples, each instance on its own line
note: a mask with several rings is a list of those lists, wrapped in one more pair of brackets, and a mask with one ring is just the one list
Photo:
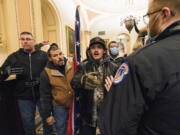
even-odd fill
[(53, 105), (51, 89), (48, 75), (43, 71), (40, 76), (40, 102), (45, 118), (51, 116), (52, 113)]

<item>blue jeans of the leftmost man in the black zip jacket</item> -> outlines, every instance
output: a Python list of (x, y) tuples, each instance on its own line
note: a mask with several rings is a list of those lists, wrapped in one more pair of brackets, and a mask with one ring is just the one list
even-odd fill
[(52, 126), (49, 126), (46, 123), (45, 118), (41, 112), (41, 106), (39, 100), (20, 100), (18, 99), (19, 110), (21, 114), (21, 119), (23, 122), (23, 127), (26, 135), (36, 135), (35, 131), (35, 113), (36, 113), (36, 106), (39, 109), (40, 116), (43, 121), (43, 130), (44, 135), (51, 135), (52, 134)]

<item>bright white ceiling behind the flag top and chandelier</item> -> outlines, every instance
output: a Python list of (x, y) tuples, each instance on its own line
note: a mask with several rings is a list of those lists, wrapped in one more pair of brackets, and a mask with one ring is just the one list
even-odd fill
[[(143, 27), (142, 16), (147, 11), (148, 0), (53, 0), (59, 7), (63, 19), (70, 22), (74, 18), (75, 7), (80, 5), (85, 29), (96, 36), (98, 31), (106, 31), (107, 36), (117, 36), (121, 32), (127, 32), (120, 21), (129, 15), (140, 17), (138, 27)], [(91, 17), (90, 14), (91, 13)], [(94, 14), (94, 17), (92, 15)], [(71, 19), (74, 21), (74, 19)], [(71, 21), (71, 22), (72, 22)], [(73, 24), (73, 23), (69, 23)], [(73, 26), (72, 26), (73, 27)]]

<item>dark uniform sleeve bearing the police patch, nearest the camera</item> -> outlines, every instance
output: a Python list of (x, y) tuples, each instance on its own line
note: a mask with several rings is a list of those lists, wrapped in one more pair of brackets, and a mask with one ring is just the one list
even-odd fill
[(131, 63), (123, 63), (117, 70), (100, 115), (102, 134), (136, 135), (145, 101), (135, 70)]

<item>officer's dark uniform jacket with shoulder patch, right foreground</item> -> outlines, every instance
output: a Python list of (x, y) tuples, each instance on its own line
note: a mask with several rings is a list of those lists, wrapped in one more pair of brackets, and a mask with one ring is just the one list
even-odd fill
[(180, 135), (180, 21), (118, 69), (100, 128), (104, 135)]

